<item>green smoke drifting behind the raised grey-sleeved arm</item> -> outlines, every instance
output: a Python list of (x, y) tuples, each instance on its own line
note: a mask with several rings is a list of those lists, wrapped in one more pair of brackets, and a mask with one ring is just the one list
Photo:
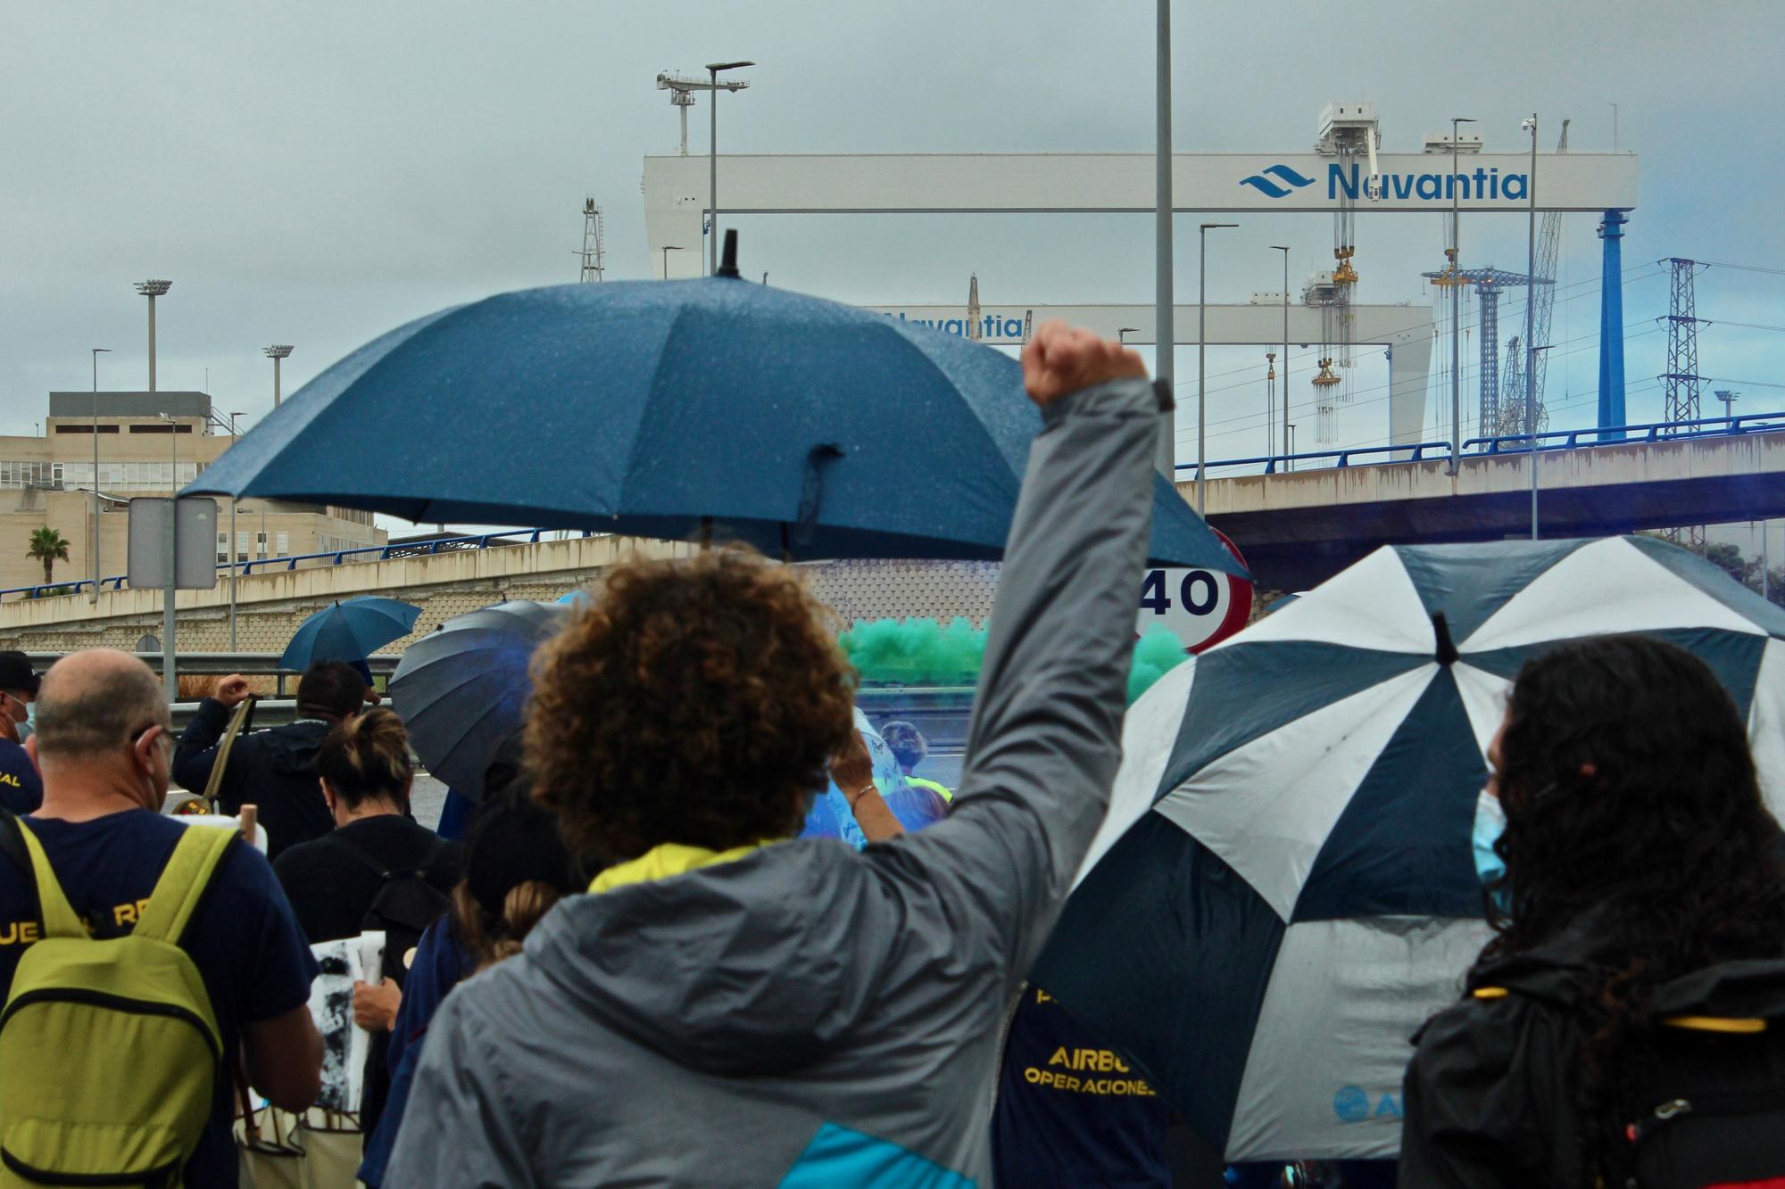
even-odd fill
[[(985, 630), (967, 619), (948, 627), (935, 619), (857, 619), (839, 643), (864, 682), (884, 686), (971, 686), (985, 661)], [(1150, 632), (1133, 650), (1128, 702), (1180, 662), (1178, 637), (1166, 628)]]

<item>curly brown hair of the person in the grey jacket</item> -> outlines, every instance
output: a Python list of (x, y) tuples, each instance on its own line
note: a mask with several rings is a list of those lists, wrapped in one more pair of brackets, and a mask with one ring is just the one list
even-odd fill
[(791, 568), (735, 546), (618, 566), (534, 657), (534, 798), (594, 859), (793, 837), (853, 691)]

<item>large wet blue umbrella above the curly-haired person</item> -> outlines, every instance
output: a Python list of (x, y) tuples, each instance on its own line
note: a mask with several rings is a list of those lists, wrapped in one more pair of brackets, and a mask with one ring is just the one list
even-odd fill
[[(775, 557), (996, 559), (1041, 414), (1019, 364), (732, 277), (525, 289), (328, 368), (189, 491)], [(1237, 573), (1157, 480), (1153, 564)]]

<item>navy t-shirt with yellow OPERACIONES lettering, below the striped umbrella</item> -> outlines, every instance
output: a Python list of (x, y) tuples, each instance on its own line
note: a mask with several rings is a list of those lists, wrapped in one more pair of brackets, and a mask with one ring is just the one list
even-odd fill
[(1023, 993), (1005, 1039), (992, 1114), (996, 1184), (1169, 1185), (1169, 1123), (1171, 1110), (1121, 1053), (1046, 991)]

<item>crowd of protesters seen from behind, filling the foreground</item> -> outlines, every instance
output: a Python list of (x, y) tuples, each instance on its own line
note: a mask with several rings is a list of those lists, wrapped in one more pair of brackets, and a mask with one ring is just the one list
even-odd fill
[[(293, 1112), (321, 1087), (311, 946), (377, 930), (382, 977), (353, 991), (369, 1185), (1171, 1184), (1169, 1107), (1025, 982), (1119, 761), (1158, 395), (1059, 325), (1023, 370), (1044, 430), (959, 787), (916, 777), (916, 727), (882, 730), (946, 803), (921, 830), (878, 794), (812, 596), (735, 548), (605, 577), (534, 659), (462, 844), (414, 821), (403, 723), (352, 666), (312, 666), (298, 721), (225, 750), (241, 678), (175, 739), (134, 657), (39, 680), (0, 655), (9, 1175), (237, 1184), (243, 1087)], [(1785, 1184), (1785, 837), (1730, 694), (1673, 644), (1578, 641), (1524, 666), (1489, 759), (1494, 937), (1408, 1050), (1399, 1184)], [(159, 812), (220, 762), (266, 855)], [(862, 850), (798, 837), (832, 784)], [(148, 964), (168, 998), (121, 1007)], [(120, 1066), (118, 1021), (150, 1016), (209, 1068)], [(1110, 1093), (1062, 1114), (1055, 1052)]]

